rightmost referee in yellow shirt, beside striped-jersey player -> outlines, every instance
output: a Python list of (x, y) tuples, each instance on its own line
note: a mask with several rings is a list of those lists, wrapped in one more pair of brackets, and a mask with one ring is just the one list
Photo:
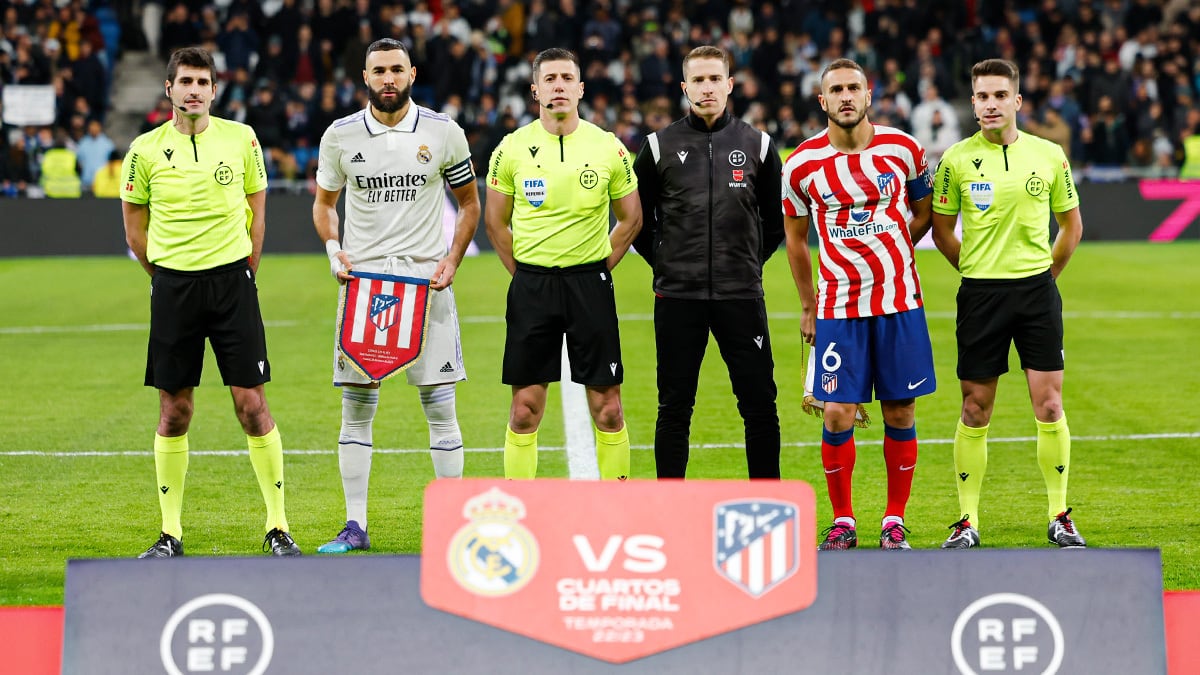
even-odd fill
[[(1067, 508), (1070, 430), (1062, 410), (1062, 274), (1084, 233), (1070, 162), (1057, 144), (1022, 133), (1020, 73), (1004, 59), (971, 68), (979, 132), (952, 145), (934, 179), (934, 241), (960, 273), (958, 375), (962, 416), (954, 434), (960, 518), (943, 549), (979, 545), (979, 491), (1000, 376), (1016, 346), (1038, 429), (1046, 485), (1046, 538), (1084, 546)], [(962, 214), (962, 240), (954, 234)], [(1058, 234), (1050, 241), (1054, 214)]]

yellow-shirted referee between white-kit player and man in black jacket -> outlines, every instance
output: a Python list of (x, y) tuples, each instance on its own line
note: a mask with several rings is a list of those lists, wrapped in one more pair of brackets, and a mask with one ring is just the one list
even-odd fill
[[(512, 274), (503, 380), (512, 387), (505, 478), (538, 473), (538, 425), (559, 380), (563, 335), (571, 380), (587, 389), (600, 478), (629, 476), (620, 407), (620, 336), (611, 270), (642, 226), (629, 151), (580, 119), (578, 58), (546, 49), (533, 61), (539, 119), (504, 137), (487, 171), (487, 238)], [(610, 207), (617, 226), (608, 232)]]

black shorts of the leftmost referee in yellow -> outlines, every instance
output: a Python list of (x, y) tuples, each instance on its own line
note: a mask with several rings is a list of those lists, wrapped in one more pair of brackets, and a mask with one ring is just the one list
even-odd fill
[(204, 339), (228, 387), (271, 380), (254, 273), (246, 261), (203, 271), (157, 268), (150, 280), (146, 387), (175, 393), (200, 383)]

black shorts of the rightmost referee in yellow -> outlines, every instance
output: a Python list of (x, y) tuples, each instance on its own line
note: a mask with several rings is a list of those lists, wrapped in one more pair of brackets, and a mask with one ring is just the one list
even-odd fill
[(959, 380), (1008, 372), (1016, 345), (1021, 369), (1063, 369), (1062, 295), (1050, 271), (1026, 279), (962, 279), (958, 294)]

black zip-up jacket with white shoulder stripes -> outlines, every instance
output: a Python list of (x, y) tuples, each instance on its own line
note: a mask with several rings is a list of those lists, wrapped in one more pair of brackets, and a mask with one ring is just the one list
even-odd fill
[(762, 298), (762, 265), (784, 240), (775, 143), (728, 110), (650, 133), (634, 161), (642, 231), (634, 247), (666, 298)]

